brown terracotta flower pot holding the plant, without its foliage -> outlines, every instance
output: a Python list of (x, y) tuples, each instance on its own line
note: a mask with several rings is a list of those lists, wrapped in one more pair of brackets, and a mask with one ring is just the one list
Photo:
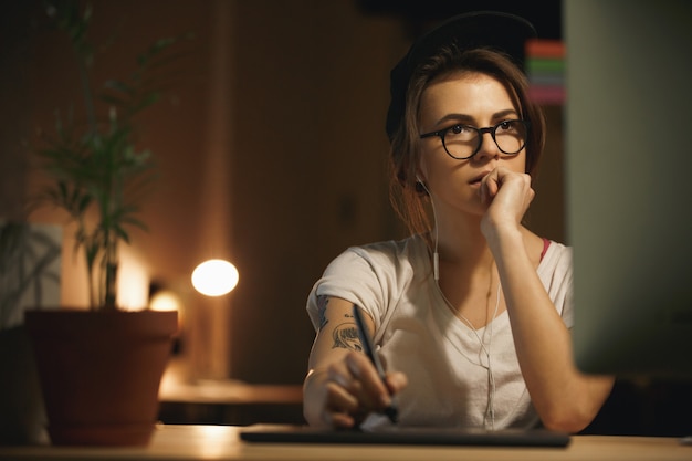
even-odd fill
[(53, 444), (148, 443), (176, 312), (31, 311), (25, 326)]

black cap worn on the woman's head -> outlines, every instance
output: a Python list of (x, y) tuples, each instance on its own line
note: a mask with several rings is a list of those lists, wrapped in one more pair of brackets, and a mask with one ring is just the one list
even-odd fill
[(455, 44), (460, 50), (496, 49), (508, 54), (523, 69), (526, 40), (535, 36), (536, 30), (524, 18), (495, 11), (459, 14), (421, 35), (390, 73), (391, 102), (386, 126), (389, 139), (403, 117), (406, 91), (413, 71), (440, 48)]

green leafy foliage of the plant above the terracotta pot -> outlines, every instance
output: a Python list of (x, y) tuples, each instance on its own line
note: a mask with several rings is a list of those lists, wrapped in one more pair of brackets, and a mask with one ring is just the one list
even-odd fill
[[(149, 150), (138, 149), (136, 116), (161, 101), (180, 72), (175, 64), (182, 53), (176, 45), (191, 35), (155, 41), (135, 56), (134, 70), (92, 86), (95, 50), (104, 48), (90, 42), (91, 7), (81, 0), (46, 3), (55, 29), (69, 36), (77, 57), (84, 106), (76, 113), (86, 116), (75, 119), (72, 106), (55, 111), (53, 132), (35, 149), (52, 184), (36, 200), (63, 209), (75, 222), (75, 252), (84, 252), (91, 274), (115, 264), (111, 258), (118, 241), (129, 242), (129, 228), (147, 229), (138, 203), (156, 178), (155, 161)], [(91, 289), (92, 294), (102, 291)]]

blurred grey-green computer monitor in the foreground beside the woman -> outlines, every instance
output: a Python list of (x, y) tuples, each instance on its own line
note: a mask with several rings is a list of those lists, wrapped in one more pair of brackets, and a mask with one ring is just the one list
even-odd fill
[(692, 378), (692, 2), (564, 0), (577, 366)]

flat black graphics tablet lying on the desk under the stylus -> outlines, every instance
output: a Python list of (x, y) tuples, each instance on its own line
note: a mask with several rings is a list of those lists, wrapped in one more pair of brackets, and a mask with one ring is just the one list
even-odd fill
[(375, 430), (329, 430), (307, 426), (254, 425), (241, 440), (263, 443), (364, 443), (485, 447), (567, 447), (569, 434), (545, 429), (459, 429), (387, 426)]

